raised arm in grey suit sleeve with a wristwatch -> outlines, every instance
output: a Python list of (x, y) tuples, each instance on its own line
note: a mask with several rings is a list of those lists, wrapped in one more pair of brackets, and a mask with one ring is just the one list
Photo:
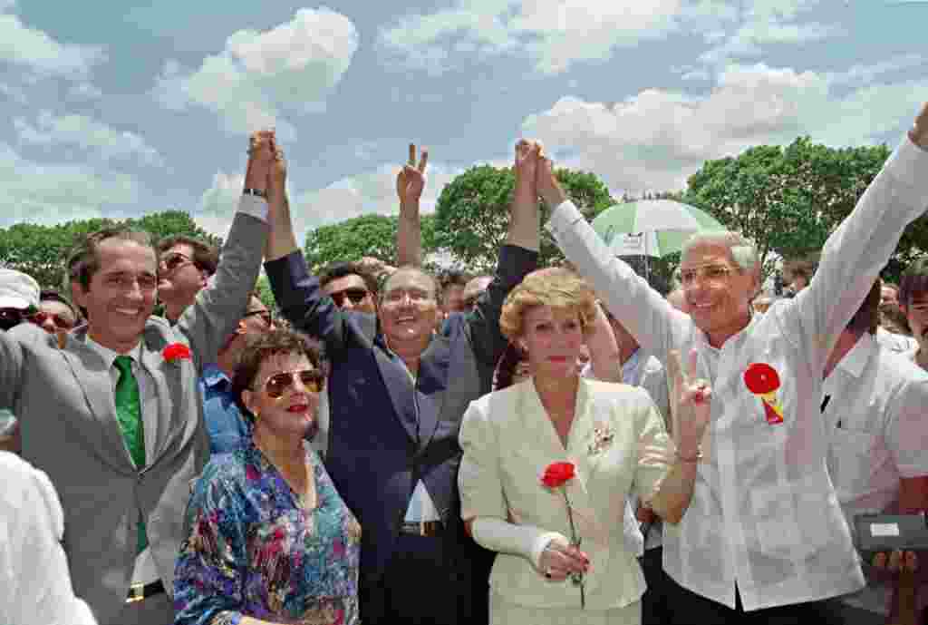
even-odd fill
[(261, 270), (267, 241), (268, 174), (274, 159), (274, 134), (262, 131), (251, 136), (245, 191), (209, 285), (188, 306), (177, 328), (187, 335), (198, 365), (215, 362), (245, 312), (249, 293)]

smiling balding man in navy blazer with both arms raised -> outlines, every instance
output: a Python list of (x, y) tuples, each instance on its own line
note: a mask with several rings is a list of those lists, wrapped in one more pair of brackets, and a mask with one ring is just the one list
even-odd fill
[(468, 315), (434, 333), (437, 285), (401, 267), (380, 293), (379, 317), (344, 311), (307, 270), (281, 212), (272, 217), (265, 270), (294, 327), (325, 344), (329, 376), (326, 465), (363, 531), (361, 618), (380, 623), (485, 621), (487, 586), (473, 579), (478, 547), (458, 498), (458, 428), (470, 401), (491, 390), (506, 346), (503, 300), (537, 265), (538, 147), (516, 149), (517, 184), (496, 277)]

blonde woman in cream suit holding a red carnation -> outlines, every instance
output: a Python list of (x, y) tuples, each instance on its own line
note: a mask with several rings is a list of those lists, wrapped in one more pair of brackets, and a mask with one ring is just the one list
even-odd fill
[[(461, 514), (474, 540), (499, 553), (494, 624), (639, 623), (645, 586), (623, 540), (625, 496), (635, 488), (671, 523), (689, 505), (710, 391), (683, 381), (675, 451), (647, 392), (579, 377), (580, 346), (597, 340), (601, 315), (569, 270), (529, 274), (509, 293), (500, 325), (528, 355), (532, 377), (471, 402), (464, 415)], [(542, 483), (552, 462), (574, 464), (562, 489)]]

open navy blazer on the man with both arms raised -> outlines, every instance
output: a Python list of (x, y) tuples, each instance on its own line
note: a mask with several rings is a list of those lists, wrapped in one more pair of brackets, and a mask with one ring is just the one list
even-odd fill
[(265, 263), (284, 316), (319, 338), (331, 364), (326, 467), (362, 527), (361, 576), (377, 579), (421, 479), (446, 535), (464, 537), (458, 498), (458, 429), (470, 401), (491, 390), (506, 347), (499, 314), (537, 253), (504, 245), (496, 277), (474, 311), (449, 317), (419, 361), (415, 386), (384, 344), (376, 319), (342, 311), (296, 252)]

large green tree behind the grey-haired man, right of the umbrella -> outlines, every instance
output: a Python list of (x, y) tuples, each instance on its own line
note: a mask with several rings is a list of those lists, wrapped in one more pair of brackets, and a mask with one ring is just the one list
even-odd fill
[[(690, 176), (684, 201), (757, 243), (767, 271), (771, 253), (818, 252), (880, 172), (885, 146), (836, 150), (800, 137), (789, 146), (757, 146), (737, 158), (707, 161)], [(885, 275), (928, 249), (928, 218), (907, 228)]]

